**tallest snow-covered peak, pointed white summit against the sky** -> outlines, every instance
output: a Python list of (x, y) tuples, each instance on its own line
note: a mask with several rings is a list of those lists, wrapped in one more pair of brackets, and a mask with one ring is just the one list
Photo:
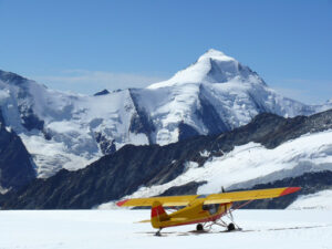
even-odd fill
[(292, 117), (323, 111), (281, 96), (248, 66), (216, 50), (168, 81), (132, 92), (153, 122), (151, 141), (160, 145), (188, 133), (231, 131), (263, 112)]

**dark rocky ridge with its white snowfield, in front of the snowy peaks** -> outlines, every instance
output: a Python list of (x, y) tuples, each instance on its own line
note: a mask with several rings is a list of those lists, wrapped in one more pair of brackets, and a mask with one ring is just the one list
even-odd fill
[(301, 186), (300, 193), (287, 198), (251, 205), (284, 208), (299, 195), (332, 187), (331, 131), (332, 110), (294, 118), (264, 113), (221, 135), (165, 146), (126, 145), (85, 168), (61, 169), (8, 193), (0, 206), (53, 209), (104, 204), (100, 208), (108, 208), (124, 197), (208, 194), (222, 186), (226, 190)]

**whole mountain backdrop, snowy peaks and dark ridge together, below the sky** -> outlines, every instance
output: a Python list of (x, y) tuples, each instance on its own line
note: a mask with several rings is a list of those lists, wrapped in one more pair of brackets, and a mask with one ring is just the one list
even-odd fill
[(168, 81), (93, 96), (0, 71), (0, 207), (302, 186), (249, 206), (284, 208), (331, 188), (331, 101), (283, 97), (216, 50)]

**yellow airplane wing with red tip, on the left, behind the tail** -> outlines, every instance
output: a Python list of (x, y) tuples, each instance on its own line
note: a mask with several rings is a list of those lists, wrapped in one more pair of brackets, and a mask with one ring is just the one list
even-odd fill
[(152, 206), (154, 201), (159, 201), (164, 207), (173, 206), (187, 206), (198, 195), (194, 196), (162, 196), (162, 197), (151, 197), (151, 198), (135, 198), (135, 199), (124, 199), (116, 205), (118, 207), (148, 207)]

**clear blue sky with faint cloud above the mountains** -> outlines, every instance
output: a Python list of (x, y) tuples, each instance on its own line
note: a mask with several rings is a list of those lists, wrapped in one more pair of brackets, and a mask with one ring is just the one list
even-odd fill
[(332, 98), (331, 0), (0, 0), (0, 69), (52, 89), (144, 87), (210, 48), (287, 96)]

